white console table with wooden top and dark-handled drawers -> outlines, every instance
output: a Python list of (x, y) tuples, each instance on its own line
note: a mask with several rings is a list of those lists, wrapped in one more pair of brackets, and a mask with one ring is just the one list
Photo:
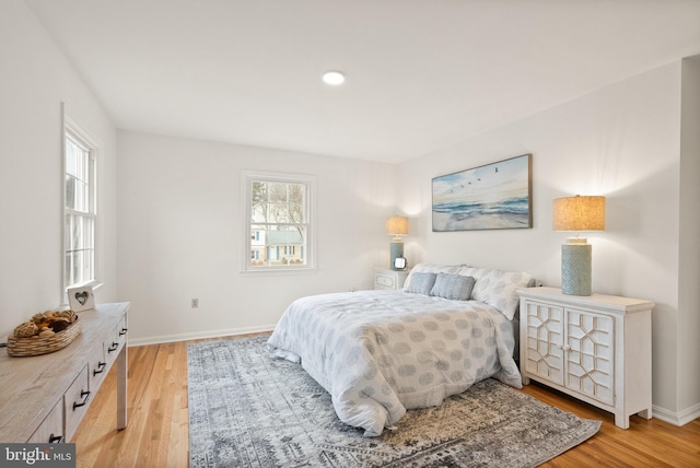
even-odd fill
[(105, 375), (117, 365), (117, 429), (127, 425), (129, 303), (78, 313), (82, 334), (31, 358), (0, 351), (0, 442), (70, 442)]

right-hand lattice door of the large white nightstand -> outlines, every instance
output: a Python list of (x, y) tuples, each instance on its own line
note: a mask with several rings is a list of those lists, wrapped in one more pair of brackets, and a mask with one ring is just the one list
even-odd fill
[(612, 317), (567, 309), (567, 387), (614, 405), (614, 344)]

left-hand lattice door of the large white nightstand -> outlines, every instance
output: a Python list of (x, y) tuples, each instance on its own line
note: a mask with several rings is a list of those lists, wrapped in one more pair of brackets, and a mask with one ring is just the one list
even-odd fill
[(527, 302), (527, 372), (556, 384), (564, 383), (563, 309)]

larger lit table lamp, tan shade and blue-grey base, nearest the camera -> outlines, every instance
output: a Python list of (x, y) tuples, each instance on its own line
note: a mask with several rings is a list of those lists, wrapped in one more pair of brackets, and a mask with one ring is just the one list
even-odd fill
[[(555, 231), (605, 231), (605, 197), (557, 198)], [(561, 292), (591, 295), (591, 251), (585, 237), (567, 237), (561, 246)]]

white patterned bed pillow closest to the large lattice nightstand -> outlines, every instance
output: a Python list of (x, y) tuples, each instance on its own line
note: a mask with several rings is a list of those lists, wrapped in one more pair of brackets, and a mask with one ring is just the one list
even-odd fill
[(476, 278), (477, 282), (471, 290), (471, 299), (495, 307), (509, 320), (513, 319), (520, 304), (517, 290), (526, 288), (532, 279), (529, 273), (483, 268), (463, 268), (459, 274)]

